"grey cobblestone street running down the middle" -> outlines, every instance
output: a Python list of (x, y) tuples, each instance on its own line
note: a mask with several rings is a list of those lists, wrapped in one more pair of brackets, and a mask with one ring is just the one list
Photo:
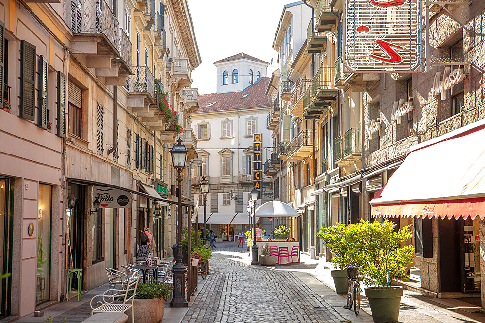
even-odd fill
[(210, 275), (182, 322), (342, 322), (294, 273), (250, 266), (245, 249), (216, 249)]

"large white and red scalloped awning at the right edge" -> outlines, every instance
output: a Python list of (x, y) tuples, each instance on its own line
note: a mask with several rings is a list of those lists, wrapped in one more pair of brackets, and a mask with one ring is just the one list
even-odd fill
[(372, 199), (372, 216), (485, 217), (485, 122), (411, 149)]

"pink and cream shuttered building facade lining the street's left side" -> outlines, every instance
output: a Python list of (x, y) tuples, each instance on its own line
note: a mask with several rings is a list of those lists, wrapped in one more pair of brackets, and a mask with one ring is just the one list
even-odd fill
[[(181, 137), (190, 151), (188, 212), (201, 59), (187, 1), (3, 6), (1, 261), (16, 274), (1, 284), (0, 315), (22, 317), (65, 298), (66, 269), (83, 271), (75, 289), (105, 283), (104, 268), (136, 257), (145, 227), (154, 254), (171, 253), (169, 150)], [(118, 207), (103, 200), (110, 190), (124, 192)]]

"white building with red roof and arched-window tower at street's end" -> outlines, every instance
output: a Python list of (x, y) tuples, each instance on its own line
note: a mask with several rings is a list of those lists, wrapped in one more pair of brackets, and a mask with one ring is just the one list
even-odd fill
[[(265, 94), (269, 63), (240, 53), (214, 64), (218, 71), (217, 92), (200, 95), (200, 108), (192, 115), (191, 127), (202, 157), (202, 166), (193, 169), (192, 185), (197, 203), (201, 199), (198, 183), (202, 176), (209, 180), (208, 228), (223, 239), (233, 241), (234, 234), (247, 230), (246, 205), (253, 187), (253, 134), (262, 133), (263, 147), (266, 147), (263, 148), (263, 164), (273, 152), (273, 139), (266, 129), (266, 118), (272, 108), (272, 100)], [(226, 79), (223, 77), (225, 71)], [(257, 78), (259, 75), (261, 77)], [(266, 189), (263, 201), (273, 200), (270, 177), (263, 178), (263, 187)], [(260, 204), (258, 200), (257, 205)], [(199, 224), (202, 224), (203, 202), (199, 205)], [(260, 224), (267, 233), (272, 231), (271, 221)]]

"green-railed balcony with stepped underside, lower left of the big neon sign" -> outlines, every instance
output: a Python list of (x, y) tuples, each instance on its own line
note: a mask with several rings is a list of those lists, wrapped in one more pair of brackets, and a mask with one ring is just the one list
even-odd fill
[[(303, 104), (303, 116), (305, 118), (319, 118), (337, 100), (339, 91), (333, 87), (332, 81), (328, 80), (327, 68), (321, 67), (311, 81), (311, 94), (305, 93)], [(308, 91), (307, 91), (308, 92)]]

